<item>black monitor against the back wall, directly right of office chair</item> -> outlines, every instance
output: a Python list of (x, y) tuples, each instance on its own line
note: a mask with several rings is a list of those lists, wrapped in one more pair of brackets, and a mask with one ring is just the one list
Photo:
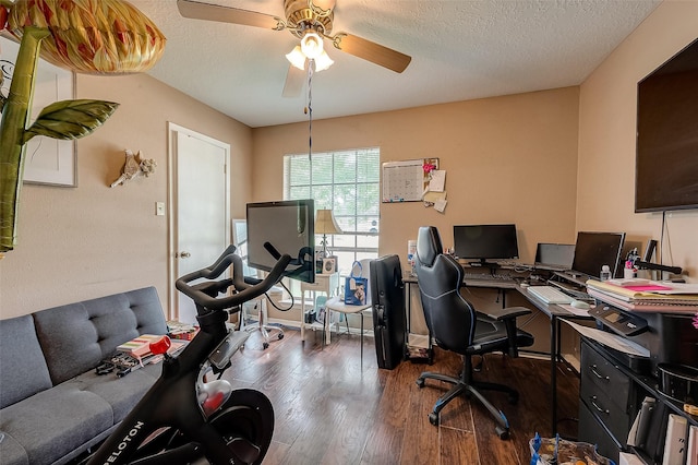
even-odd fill
[(516, 225), (456, 225), (454, 253), (459, 259), (474, 259), (483, 265), (493, 264), (488, 260), (518, 259)]

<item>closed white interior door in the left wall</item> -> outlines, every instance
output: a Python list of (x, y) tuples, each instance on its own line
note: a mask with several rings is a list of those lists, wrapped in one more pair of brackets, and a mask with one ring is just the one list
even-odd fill
[(230, 145), (169, 124), (172, 167), (170, 203), (170, 318), (195, 323), (192, 300), (177, 291), (174, 279), (212, 264), (230, 240)]

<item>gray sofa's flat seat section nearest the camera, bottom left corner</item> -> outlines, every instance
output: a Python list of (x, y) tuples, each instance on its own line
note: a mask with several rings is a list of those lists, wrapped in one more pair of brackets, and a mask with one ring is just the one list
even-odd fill
[(2, 409), (0, 432), (10, 440), (0, 442), (0, 456), (4, 464), (5, 446), (12, 452), (19, 444), (31, 464), (53, 463), (112, 426), (104, 398), (74, 383), (59, 384)]

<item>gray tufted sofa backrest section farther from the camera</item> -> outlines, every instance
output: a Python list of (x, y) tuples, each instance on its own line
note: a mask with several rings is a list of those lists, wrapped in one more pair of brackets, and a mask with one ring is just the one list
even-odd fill
[(155, 287), (41, 310), (34, 321), (53, 384), (93, 370), (140, 334), (167, 333)]

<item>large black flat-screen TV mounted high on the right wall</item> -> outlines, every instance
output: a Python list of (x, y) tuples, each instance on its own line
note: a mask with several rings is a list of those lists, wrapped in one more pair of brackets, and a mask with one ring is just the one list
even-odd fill
[(635, 211), (698, 208), (698, 39), (637, 86)]

